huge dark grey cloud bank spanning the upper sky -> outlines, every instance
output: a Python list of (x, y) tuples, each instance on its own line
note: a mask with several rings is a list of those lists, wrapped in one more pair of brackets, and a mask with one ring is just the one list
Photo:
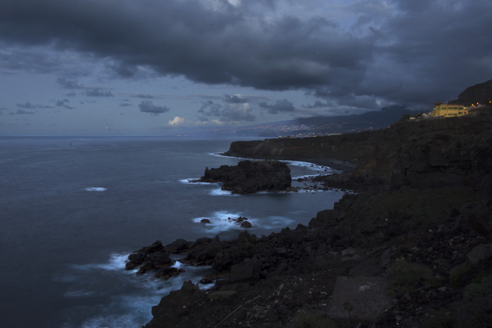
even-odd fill
[[(354, 18), (349, 26), (294, 10), (279, 15), (276, 1), (263, 3), (3, 0), (0, 39), (110, 60), (122, 77), (148, 67), (206, 84), (315, 90), (319, 98), (364, 108), (377, 98), (456, 98), (492, 75), (491, 1), (340, 2), (344, 17)], [(27, 56), (0, 53), (0, 60), (31, 67)]]

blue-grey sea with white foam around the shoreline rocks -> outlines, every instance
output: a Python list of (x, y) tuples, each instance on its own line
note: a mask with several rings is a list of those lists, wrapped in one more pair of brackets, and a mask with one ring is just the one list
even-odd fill
[[(209, 268), (181, 265), (181, 276), (154, 281), (124, 270), (130, 251), (214, 237), (237, 227), (227, 217), (246, 216), (249, 232), (268, 235), (307, 225), (341, 198), (333, 190), (233, 196), (186, 182), (206, 166), (236, 165), (213, 153), (240, 139), (0, 137), (2, 326), (141, 327), (161, 297)], [(319, 170), (305, 165), (289, 163), (292, 177)]]

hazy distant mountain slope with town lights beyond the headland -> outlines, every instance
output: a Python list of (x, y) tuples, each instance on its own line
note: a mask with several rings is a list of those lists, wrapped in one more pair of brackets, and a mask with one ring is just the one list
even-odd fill
[(309, 133), (339, 133), (363, 129), (386, 128), (401, 119), (403, 114), (415, 114), (402, 106), (383, 107), (380, 111), (364, 114), (334, 117), (313, 117), (268, 122), (234, 128), (208, 128), (183, 131), (173, 135), (181, 136), (246, 136), (246, 137), (278, 137)]

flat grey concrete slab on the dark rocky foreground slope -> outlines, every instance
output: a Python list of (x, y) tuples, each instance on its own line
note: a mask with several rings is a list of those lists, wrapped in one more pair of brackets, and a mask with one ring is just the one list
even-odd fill
[(337, 320), (348, 319), (345, 302), (350, 301), (354, 305), (350, 312), (352, 322), (376, 320), (392, 305), (386, 284), (386, 278), (380, 277), (337, 277), (333, 296), (328, 302), (328, 316)]

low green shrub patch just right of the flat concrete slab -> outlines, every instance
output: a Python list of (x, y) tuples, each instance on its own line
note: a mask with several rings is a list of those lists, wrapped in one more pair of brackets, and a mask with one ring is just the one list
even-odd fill
[(420, 264), (411, 264), (404, 260), (394, 262), (388, 270), (388, 294), (392, 297), (401, 297), (411, 293), (421, 285), (439, 287), (443, 278), (432, 275), (431, 270)]

